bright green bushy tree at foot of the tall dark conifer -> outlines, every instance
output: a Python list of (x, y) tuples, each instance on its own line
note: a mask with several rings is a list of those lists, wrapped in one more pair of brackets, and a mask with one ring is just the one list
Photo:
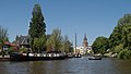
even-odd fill
[(45, 51), (45, 49), (46, 49), (46, 36), (41, 36), (40, 38), (35, 38), (33, 47), (38, 52)]

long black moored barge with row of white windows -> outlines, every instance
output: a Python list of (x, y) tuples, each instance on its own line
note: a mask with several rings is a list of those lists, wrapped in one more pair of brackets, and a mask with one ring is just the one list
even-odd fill
[(11, 53), (11, 61), (64, 60), (63, 53)]

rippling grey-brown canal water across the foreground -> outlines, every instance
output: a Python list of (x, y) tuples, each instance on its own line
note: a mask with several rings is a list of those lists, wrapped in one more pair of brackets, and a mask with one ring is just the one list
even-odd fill
[(131, 61), (87, 57), (56, 61), (0, 62), (0, 74), (131, 74)]

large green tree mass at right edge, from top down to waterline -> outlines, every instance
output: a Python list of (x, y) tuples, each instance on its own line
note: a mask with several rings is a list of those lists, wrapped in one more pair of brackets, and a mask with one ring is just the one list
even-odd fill
[(109, 49), (117, 52), (120, 59), (131, 59), (131, 14), (118, 21), (109, 37)]

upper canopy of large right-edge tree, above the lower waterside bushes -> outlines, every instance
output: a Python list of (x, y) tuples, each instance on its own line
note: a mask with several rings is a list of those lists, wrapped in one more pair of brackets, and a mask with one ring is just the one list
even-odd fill
[(118, 25), (115, 27), (114, 32), (109, 37), (110, 49), (115, 49), (120, 44), (123, 45), (123, 48), (131, 49), (131, 14), (124, 14), (118, 21)]

